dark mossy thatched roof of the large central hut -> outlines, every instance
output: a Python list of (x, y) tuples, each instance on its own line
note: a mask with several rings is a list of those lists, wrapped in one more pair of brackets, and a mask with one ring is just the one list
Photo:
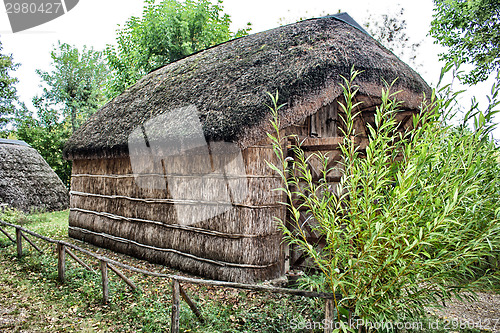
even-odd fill
[[(127, 138), (153, 117), (194, 105), (207, 140), (241, 148), (265, 138), (270, 98), (279, 91), (282, 125), (315, 113), (340, 94), (341, 76), (364, 71), (359, 93), (380, 96), (398, 79), (405, 107), (418, 109), (429, 86), (408, 65), (352, 24), (328, 16), (231, 40), (155, 70), (106, 104), (68, 141), (69, 159), (128, 154)], [(163, 124), (164, 132), (179, 127)]]

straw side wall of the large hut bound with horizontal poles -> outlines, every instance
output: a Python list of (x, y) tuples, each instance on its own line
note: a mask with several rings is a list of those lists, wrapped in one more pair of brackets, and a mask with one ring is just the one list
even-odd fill
[[(284, 208), (277, 204), (281, 195), (272, 191), (280, 179), (265, 163), (273, 161), (274, 153), (269, 146), (257, 146), (245, 149), (242, 156), (244, 173), (226, 172), (226, 179), (217, 172), (207, 176), (206, 164), (196, 163), (203, 157), (196, 155), (171, 157), (172, 165), (184, 166), (184, 174), (179, 168), (173, 176), (145, 175), (186, 183), (197, 171), (204, 172), (207, 186), (195, 189), (202, 197), (198, 201), (189, 199), (188, 189), (185, 197), (173, 198), (168, 190), (140, 188), (130, 159), (75, 160), (69, 234), (210, 278), (249, 282), (278, 277), (284, 273), (284, 251), (274, 217), (283, 217)], [(194, 169), (186, 170), (186, 165)], [(210, 191), (227, 178), (244, 181), (250, 190), (229, 210), (204, 219), (218, 206), (209, 200), (217, 193)], [(199, 222), (184, 225), (177, 205), (192, 207), (192, 217)]]

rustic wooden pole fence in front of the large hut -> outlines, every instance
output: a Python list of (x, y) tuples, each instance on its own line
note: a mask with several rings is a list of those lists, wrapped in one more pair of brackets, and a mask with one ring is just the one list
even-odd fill
[[(19, 226), (16, 224), (7, 223), (7, 222), (0, 220), (0, 225), (15, 228), (15, 230), (16, 230), (15, 239), (7, 231), (5, 231), (2, 227), (0, 227), (0, 232), (5, 234), (5, 236), (7, 236), (7, 238), (10, 241), (12, 241), (13, 243), (16, 244), (17, 256), (19, 258), (21, 258), (23, 255), (23, 242), (22, 242), (23, 239), (26, 240), (35, 250), (37, 250), (40, 253), (43, 253), (43, 250), (40, 249), (35, 243), (33, 243), (27, 237), (26, 234), (31, 235), (31, 236), (36, 237), (36, 238), (39, 238), (39, 239), (44, 240), (46, 242), (56, 244), (57, 255), (58, 255), (57, 272), (58, 272), (58, 280), (60, 283), (64, 283), (64, 279), (65, 279), (66, 254), (68, 256), (70, 256), (73, 260), (75, 260), (78, 264), (83, 266), (85, 269), (98, 274), (88, 264), (86, 264), (84, 261), (82, 261), (80, 258), (78, 258), (75, 255), (75, 253), (73, 253), (72, 250), (79, 251), (79, 252), (84, 253), (90, 257), (98, 259), (100, 262), (100, 274), (101, 274), (101, 279), (102, 279), (103, 302), (105, 304), (109, 302), (108, 269), (113, 271), (120, 279), (122, 279), (131, 290), (137, 289), (137, 286), (134, 284), (134, 282), (132, 280), (127, 278), (117, 267), (121, 267), (123, 269), (127, 269), (127, 270), (130, 270), (132, 272), (136, 272), (136, 273), (140, 273), (140, 274), (144, 274), (144, 275), (156, 276), (156, 277), (161, 277), (161, 278), (166, 278), (166, 279), (172, 280), (172, 316), (171, 316), (171, 332), (172, 333), (179, 332), (179, 315), (180, 315), (180, 299), (181, 298), (187, 303), (189, 308), (193, 311), (193, 313), (196, 315), (198, 320), (200, 320), (200, 322), (203, 323), (205, 321), (199, 308), (196, 306), (196, 304), (193, 302), (193, 300), (187, 295), (186, 291), (182, 288), (182, 286), (180, 284), (181, 282), (188, 283), (188, 284), (201, 284), (201, 285), (210, 285), (210, 286), (218, 286), (218, 287), (226, 287), (226, 288), (236, 288), (236, 289), (244, 289), (244, 290), (252, 290), (252, 291), (269, 292), (269, 293), (288, 294), (288, 295), (296, 295), (296, 296), (302, 296), (302, 297), (323, 298), (323, 299), (325, 299), (325, 321), (327, 323), (333, 322), (334, 308), (335, 308), (334, 302), (335, 302), (335, 300), (341, 299), (340, 295), (334, 295), (331, 293), (318, 293), (318, 292), (311, 292), (311, 291), (306, 291), (306, 290), (277, 288), (277, 287), (270, 287), (270, 286), (257, 285), (257, 284), (244, 284), (244, 283), (235, 283), (235, 282), (227, 282), (227, 281), (194, 279), (194, 278), (188, 278), (188, 277), (175, 275), (175, 274), (163, 274), (163, 273), (145, 271), (145, 270), (142, 270), (142, 269), (139, 269), (136, 267), (132, 267), (132, 266), (123, 264), (121, 262), (115, 261), (115, 260), (107, 258), (105, 256), (98, 255), (96, 253), (85, 250), (85, 249), (83, 249), (79, 246), (76, 246), (74, 244), (64, 242), (61, 240), (55, 240), (55, 239), (52, 239), (49, 237), (39, 235), (31, 230), (25, 229), (22, 226)], [(325, 328), (324, 328), (325, 332), (332, 332), (333, 331), (333, 329), (329, 326), (331, 326), (331, 325), (325, 325)]]

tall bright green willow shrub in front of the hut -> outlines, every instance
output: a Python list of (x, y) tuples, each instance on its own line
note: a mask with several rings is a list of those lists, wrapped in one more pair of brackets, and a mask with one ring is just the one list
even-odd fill
[[(372, 322), (421, 316), (424, 306), (460, 297), (460, 291), (498, 286), (491, 258), (500, 250), (500, 167), (488, 136), (494, 112), (469, 112), (474, 130), (446, 126), (455, 96), (432, 96), (414, 115), (413, 129), (401, 132), (395, 120), (400, 103), (388, 87), (375, 125), (367, 125), (369, 143), (362, 151), (354, 128), (356, 75), (344, 79), (343, 171), (335, 188), (327, 182), (325, 155), (306, 157), (298, 145), (292, 147), (295, 157), (287, 157), (288, 138), (279, 131), (282, 106), (271, 96), (276, 133), (269, 137), (279, 162), (270, 167), (284, 181), (279, 190), (287, 196), (295, 228), (279, 222), (285, 241), (304, 251), (320, 272), (306, 277), (306, 284), (342, 295), (335, 299), (339, 322), (347, 309)], [(308, 167), (313, 158), (323, 165), (314, 182)], [(325, 247), (309, 243), (300, 231), (304, 210), (316, 221), (313, 229)]]

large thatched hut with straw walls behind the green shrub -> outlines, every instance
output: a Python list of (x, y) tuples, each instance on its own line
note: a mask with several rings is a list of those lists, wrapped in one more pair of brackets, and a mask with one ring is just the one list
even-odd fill
[(106, 104), (64, 150), (73, 160), (70, 236), (211, 278), (281, 275), (290, 256), (273, 222), (286, 212), (266, 165), (266, 92), (279, 91), (286, 103), (287, 133), (332, 151), (339, 83), (353, 66), (363, 71), (355, 81), (364, 101), (360, 136), (384, 81), (397, 79), (404, 126), (430, 93), (349, 19), (310, 19), (217, 45), (151, 72)]

